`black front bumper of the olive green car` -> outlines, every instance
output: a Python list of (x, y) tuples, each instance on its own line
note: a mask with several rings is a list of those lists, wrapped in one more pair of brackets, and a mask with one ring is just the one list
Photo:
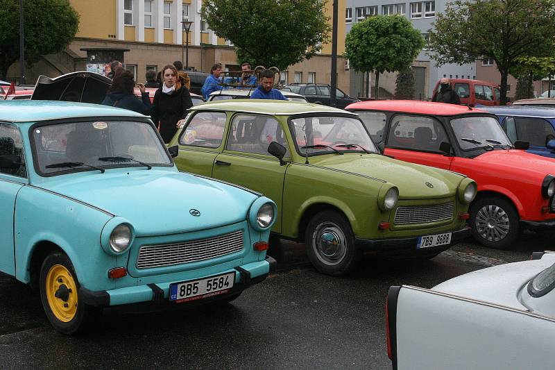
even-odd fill
[[(447, 231), (448, 233), (448, 231)], [(422, 235), (423, 236), (423, 235)], [(362, 251), (375, 251), (380, 253), (415, 253), (416, 255), (420, 253), (436, 253), (438, 251), (445, 251), (449, 249), (450, 246), (461, 242), (461, 240), (470, 236), (470, 227), (465, 226), (461, 230), (452, 231), (451, 242), (449, 244), (441, 246), (433, 246), (431, 248), (416, 249), (416, 244), (418, 243), (418, 237), (404, 237), (398, 239), (359, 239), (357, 238), (355, 243), (357, 248)]]

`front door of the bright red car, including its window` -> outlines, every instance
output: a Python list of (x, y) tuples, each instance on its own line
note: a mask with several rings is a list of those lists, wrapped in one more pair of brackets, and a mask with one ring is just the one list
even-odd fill
[(442, 142), (450, 142), (443, 124), (432, 117), (393, 115), (384, 153), (393, 158), (449, 169), (451, 156), (439, 150)]

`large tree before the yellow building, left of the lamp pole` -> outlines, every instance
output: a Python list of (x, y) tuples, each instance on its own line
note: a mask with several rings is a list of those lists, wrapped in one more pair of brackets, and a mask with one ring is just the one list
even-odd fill
[(203, 19), (229, 40), (237, 60), (287, 69), (330, 40), (326, 0), (205, 0)]

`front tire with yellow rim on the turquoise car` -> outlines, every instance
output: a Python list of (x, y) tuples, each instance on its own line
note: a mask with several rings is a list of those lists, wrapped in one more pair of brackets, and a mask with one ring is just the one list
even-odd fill
[(71, 260), (61, 252), (48, 255), (40, 269), (40, 298), (52, 326), (60, 333), (82, 333), (98, 311), (80, 301), (79, 282)]

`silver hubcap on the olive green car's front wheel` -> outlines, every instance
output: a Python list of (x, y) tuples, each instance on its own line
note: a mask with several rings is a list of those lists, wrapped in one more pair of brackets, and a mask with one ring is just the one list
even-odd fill
[(336, 224), (325, 222), (314, 230), (312, 248), (321, 262), (328, 265), (339, 264), (347, 251), (345, 235)]

